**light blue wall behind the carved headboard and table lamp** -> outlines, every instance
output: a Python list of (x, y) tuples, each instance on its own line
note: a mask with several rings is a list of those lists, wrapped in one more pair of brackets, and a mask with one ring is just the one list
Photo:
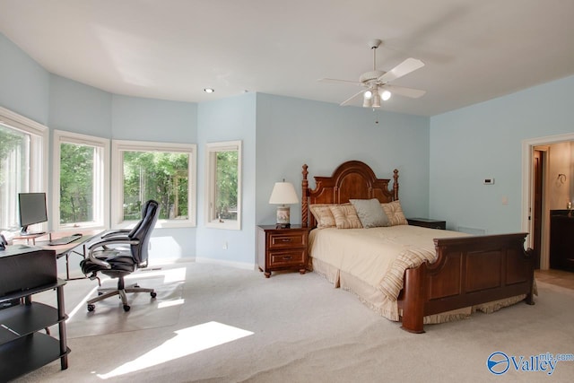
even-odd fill
[[(379, 178), (399, 170), (399, 198), (407, 216), (429, 213), (429, 118), (257, 94), (257, 224), (274, 224), (274, 182), (293, 183), (301, 197), (301, 166), (330, 176), (344, 161), (369, 164)], [(301, 222), (300, 204), (291, 222)]]

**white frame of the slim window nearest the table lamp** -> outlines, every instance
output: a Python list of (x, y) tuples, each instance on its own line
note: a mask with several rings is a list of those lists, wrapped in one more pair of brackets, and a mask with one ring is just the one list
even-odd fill
[[(241, 230), (242, 197), (241, 197), (241, 168), (242, 168), (242, 142), (224, 141), (217, 143), (205, 144), (205, 198), (204, 198), (204, 224), (206, 227), (223, 230)], [(214, 213), (215, 205), (215, 178), (217, 170), (215, 169), (215, 159), (217, 152), (237, 151), (237, 221), (217, 219)], [(213, 217), (213, 218), (212, 218)]]

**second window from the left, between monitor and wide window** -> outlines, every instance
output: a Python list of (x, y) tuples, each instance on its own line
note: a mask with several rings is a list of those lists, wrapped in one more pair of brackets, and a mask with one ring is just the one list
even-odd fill
[(52, 227), (107, 227), (109, 140), (54, 131)]

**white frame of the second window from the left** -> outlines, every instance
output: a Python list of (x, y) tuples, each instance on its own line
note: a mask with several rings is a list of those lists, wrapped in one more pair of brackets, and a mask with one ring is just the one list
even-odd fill
[[(52, 182), (51, 222), (53, 230), (69, 231), (74, 228), (104, 229), (109, 227), (109, 139), (55, 129), (52, 144), (54, 181)], [(60, 144), (94, 146), (100, 152), (99, 164), (94, 169), (96, 179), (94, 179), (94, 220), (92, 222), (60, 223)]]

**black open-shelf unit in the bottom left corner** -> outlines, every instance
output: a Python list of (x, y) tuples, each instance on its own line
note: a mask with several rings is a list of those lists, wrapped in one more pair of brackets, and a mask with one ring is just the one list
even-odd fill
[[(65, 281), (57, 279), (22, 292), (0, 297), (0, 303), (19, 304), (0, 309), (0, 377), (15, 379), (32, 370), (60, 359), (62, 370), (68, 368), (70, 349), (66, 345), (64, 309)], [(32, 301), (32, 295), (56, 290), (57, 307)], [(48, 327), (58, 325), (58, 336), (48, 333)]]

